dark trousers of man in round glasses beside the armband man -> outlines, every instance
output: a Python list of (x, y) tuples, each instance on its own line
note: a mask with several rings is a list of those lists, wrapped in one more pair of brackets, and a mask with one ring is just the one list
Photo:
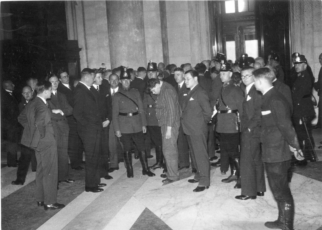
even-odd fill
[(248, 130), (242, 133), (240, 167), (244, 196), (256, 196), (257, 192), (266, 192), (260, 138), (253, 138), (251, 134)]

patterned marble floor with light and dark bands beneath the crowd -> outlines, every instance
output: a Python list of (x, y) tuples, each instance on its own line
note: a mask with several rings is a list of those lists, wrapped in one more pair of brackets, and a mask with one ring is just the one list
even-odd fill
[[(322, 141), (321, 130), (314, 136)], [(319, 161), (295, 168), (289, 184), (295, 201), (296, 230), (322, 229), (322, 150), (316, 148)], [(152, 151), (154, 155), (154, 151)], [(149, 159), (149, 165), (155, 158)], [(4, 163), (4, 162), (2, 162)], [(195, 184), (191, 168), (180, 171), (180, 180), (163, 185), (156, 169), (155, 177), (142, 176), (139, 160), (133, 160), (134, 178), (127, 178), (126, 169), (110, 175), (104, 192), (84, 191), (84, 171), (70, 171), (75, 183), (61, 183), (58, 202), (66, 205), (61, 210), (44, 211), (34, 199), (35, 173), (29, 170), (23, 186), (11, 185), (16, 168), (1, 168), (1, 229), (173, 229), (173, 230), (266, 230), (264, 223), (277, 218), (277, 204), (268, 183), (267, 192), (255, 200), (241, 201), (234, 197), (240, 189), (235, 183), (225, 184), (227, 176), (219, 168), (211, 168), (211, 186), (200, 193), (192, 190)]]

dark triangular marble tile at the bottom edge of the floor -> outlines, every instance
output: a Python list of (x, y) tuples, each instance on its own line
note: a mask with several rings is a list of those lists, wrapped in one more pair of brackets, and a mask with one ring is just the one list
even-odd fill
[(145, 208), (130, 230), (172, 230), (166, 223), (157, 217), (148, 208)]

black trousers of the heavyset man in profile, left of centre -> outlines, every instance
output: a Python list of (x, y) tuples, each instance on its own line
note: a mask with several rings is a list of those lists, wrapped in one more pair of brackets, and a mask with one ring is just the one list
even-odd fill
[(100, 142), (102, 130), (99, 127), (84, 127), (78, 134), (85, 149), (85, 187), (97, 187), (100, 183)]

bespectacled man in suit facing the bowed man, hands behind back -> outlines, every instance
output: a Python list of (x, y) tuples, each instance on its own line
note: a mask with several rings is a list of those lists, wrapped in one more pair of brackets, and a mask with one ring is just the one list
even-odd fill
[(210, 186), (210, 163), (207, 153), (207, 123), (211, 120), (212, 108), (207, 92), (198, 84), (198, 72), (185, 72), (185, 85), (190, 89), (182, 112), (182, 128), (187, 135), (191, 159), (197, 172), (189, 183), (199, 183), (194, 192)]

